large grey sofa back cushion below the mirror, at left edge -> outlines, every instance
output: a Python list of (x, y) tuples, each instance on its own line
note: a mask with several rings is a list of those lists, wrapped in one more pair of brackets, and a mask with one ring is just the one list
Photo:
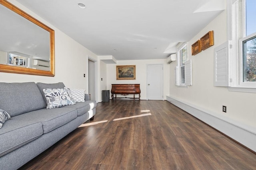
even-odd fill
[(0, 82), (0, 108), (11, 117), (46, 107), (44, 97), (34, 82)]

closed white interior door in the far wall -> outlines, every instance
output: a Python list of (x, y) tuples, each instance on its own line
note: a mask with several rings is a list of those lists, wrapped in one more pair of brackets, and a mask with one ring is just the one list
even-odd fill
[(163, 100), (163, 65), (147, 65), (147, 97), (148, 100)]

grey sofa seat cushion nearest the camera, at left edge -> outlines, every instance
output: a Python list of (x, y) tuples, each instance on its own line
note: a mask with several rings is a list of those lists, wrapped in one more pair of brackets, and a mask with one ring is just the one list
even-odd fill
[(8, 120), (0, 130), (0, 157), (43, 134), (42, 123)]

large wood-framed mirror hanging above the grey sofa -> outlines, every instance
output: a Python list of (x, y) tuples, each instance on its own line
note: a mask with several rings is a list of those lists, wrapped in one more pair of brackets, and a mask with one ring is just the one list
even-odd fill
[(54, 76), (54, 30), (0, 0), (0, 72)]

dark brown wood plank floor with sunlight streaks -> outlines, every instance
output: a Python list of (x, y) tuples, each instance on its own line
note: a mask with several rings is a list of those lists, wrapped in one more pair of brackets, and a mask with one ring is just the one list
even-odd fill
[(256, 169), (256, 154), (168, 101), (98, 103), (83, 125), (20, 169)]

